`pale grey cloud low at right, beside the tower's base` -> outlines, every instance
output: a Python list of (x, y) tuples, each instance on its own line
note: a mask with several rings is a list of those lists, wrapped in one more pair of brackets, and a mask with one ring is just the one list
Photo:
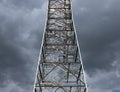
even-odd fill
[(97, 71), (94, 77), (88, 78), (88, 82), (90, 83), (88, 84), (90, 92), (110, 92), (114, 89), (119, 89), (120, 86), (120, 81), (116, 76), (115, 70), (107, 73), (104, 71)]

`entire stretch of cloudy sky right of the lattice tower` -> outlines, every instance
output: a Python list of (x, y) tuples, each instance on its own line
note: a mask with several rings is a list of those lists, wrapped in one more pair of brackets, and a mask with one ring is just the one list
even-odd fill
[(120, 1), (77, 0), (73, 3), (89, 92), (119, 89)]

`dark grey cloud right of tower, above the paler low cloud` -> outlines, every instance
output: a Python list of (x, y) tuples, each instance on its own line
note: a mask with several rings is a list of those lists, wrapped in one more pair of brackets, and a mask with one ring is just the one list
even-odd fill
[(91, 73), (97, 69), (113, 69), (115, 46), (111, 44), (120, 40), (120, 1), (77, 0), (77, 2), (76, 4), (80, 5), (74, 5), (74, 18), (80, 35), (79, 41), (86, 70)]

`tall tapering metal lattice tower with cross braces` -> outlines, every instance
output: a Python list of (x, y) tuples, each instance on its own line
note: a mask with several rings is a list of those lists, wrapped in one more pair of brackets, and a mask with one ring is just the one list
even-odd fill
[(33, 92), (87, 92), (70, 0), (48, 0)]

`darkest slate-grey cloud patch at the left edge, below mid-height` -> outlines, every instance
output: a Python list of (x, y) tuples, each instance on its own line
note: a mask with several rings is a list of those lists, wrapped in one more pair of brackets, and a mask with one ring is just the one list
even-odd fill
[[(12, 41), (12, 40), (11, 40)], [(26, 60), (19, 48), (0, 35), (0, 81), (1, 85), (7, 80), (6, 77), (19, 82), (20, 84), (28, 83)], [(27, 56), (26, 56), (27, 57)]]

